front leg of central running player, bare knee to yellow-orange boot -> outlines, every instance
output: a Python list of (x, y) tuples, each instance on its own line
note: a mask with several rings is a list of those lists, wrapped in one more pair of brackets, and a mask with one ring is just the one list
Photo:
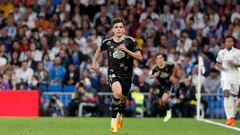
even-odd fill
[(117, 133), (117, 113), (119, 111), (120, 105), (120, 98), (122, 95), (122, 87), (119, 81), (115, 81), (111, 85), (113, 91), (113, 98), (112, 98), (112, 120), (111, 120), (111, 132)]

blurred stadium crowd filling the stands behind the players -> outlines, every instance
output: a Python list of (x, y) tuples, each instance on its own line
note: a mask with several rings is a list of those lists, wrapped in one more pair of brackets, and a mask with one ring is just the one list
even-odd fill
[[(237, 0), (1, 0), (1, 90), (73, 85), (73, 99), (107, 102), (97, 96), (110, 92), (106, 55), (97, 72), (92, 72), (91, 60), (102, 40), (112, 36), (114, 17), (125, 19), (127, 34), (142, 50), (144, 60), (134, 62), (134, 91), (149, 94), (144, 102), (148, 115), (159, 109), (154, 108), (158, 91), (149, 77), (157, 53), (166, 54), (177, 68), (174, 115), (192, 117), (198, 55), (203, 56), (205, 67), (202, 90), (217, 93), (215, 58), (224, 47), (224, 37), (232, 35), (240, 48)], [(74, 100), (69, 106), (75, 115)]]

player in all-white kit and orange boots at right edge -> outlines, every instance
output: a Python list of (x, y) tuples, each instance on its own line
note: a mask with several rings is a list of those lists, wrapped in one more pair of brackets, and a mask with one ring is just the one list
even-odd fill
[(236, 125), (237, 96), (239, 92), (240, 50), (234, 48), (235, 40), (227, 36), (225, 48), (218, 52), (216, 68), (221, 71), (221, 87), (224, 91), (224, 110), (227, 117), (226, 125)]

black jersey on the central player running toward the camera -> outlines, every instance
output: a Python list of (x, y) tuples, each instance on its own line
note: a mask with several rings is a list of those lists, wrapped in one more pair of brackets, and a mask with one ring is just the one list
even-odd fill
[(139, 51), (137, 43), (132, 37), (125, 37), (120, 42), (115, 42), (113, 38), (106, 39), (103, 41), (100, 49), (101, 51), (107, 51), (108, 72), (124, 77), (133, 73), (133, 57), (117, 48), (121, 44), (125, 44), (126, 48), (132, 52)]

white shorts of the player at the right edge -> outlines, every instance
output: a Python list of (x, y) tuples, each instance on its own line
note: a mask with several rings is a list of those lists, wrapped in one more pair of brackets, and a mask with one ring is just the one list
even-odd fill
[(239, 91), (238, 83), (232, 83), (230, 81), (221, 81), (221, 86), (223, 91), (229, 90), (231, 94), (238, 95), (238, 91)]

